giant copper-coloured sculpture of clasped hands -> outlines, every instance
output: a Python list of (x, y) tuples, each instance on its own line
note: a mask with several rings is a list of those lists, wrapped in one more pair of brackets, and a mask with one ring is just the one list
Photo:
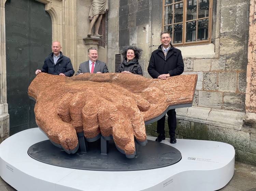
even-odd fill
[(77, 148), (77, 133), (86, 138), (113, 136), (115, 144), (132, 155), (134, 137), (146, 141), (144, 122), (168, 106), (192, 103), (197, 75), (166, 80), (123, 73), (63, 77), (40, 73), (28, 94), (36, 100), (38, 126), (65, 150)]

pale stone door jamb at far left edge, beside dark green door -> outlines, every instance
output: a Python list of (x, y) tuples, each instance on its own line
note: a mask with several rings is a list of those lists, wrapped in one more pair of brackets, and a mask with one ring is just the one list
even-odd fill
[(9, 114), (6, 93), (5, 1), (0, 0), (0, 143), (9, 136)]

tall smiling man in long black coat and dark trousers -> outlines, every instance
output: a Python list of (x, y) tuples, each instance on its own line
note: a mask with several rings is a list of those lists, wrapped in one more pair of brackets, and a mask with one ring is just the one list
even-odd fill
[[(167, 79), (170, 76), (180, 75), (184, 71), (184, 63), (181, 51), (171, 44), (170, 33), (163, 31), (160, 34), (161, 45), (154, 50), (150, 57), (147, 71), (152, 78)], [(176, 143), (176, 112), (171, 109), (167, 112), (170, 143)], [(157, 121), (158, 137), (156, 141), (165, 140), (165, 116)]]

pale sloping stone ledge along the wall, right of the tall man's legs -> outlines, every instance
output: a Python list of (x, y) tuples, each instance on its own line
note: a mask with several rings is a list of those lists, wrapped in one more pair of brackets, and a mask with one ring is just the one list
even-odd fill
[(241, 130), (245, 113), (192, 106), (176, 109), (177, 119)]

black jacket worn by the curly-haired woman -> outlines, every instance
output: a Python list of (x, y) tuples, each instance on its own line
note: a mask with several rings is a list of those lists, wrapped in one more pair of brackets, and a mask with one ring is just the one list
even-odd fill
[(133, 60), (131, 60), (129, 62), (127, 62), (127, 60), (125, 59), (123, 61), (123, 63), (120, 63), (116, 72), (119, 73), (119, 72), (124, 72), (124, 71), (128, 71), (133, 74), (139, 74), (139, 75), (143, 76), (141, 66), (139, 64), (139, 61), (136, 58), (134, 58)]

